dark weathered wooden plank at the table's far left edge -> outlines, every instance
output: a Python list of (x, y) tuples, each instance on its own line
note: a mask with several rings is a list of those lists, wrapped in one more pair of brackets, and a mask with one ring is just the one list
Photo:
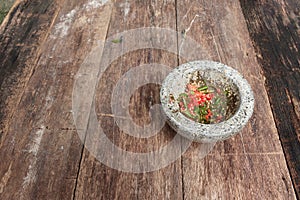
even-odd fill
[[(39, 46), (59, 9), (55, 3), (16, 1), (0, 27), (0, 144), (24, 86), (40, 56)], [(18, 39), (16, 39), (18, 38)]]

